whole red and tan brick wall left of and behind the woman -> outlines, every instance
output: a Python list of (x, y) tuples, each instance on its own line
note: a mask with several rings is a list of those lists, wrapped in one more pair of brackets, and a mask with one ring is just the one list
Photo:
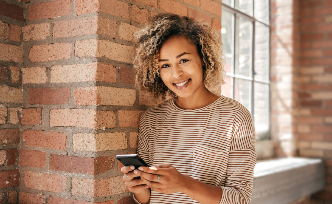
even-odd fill
[(15, 1), (0, 1), (3, 202), (133, 203), (115, 155), (136, 151), (153, 105), (134, 87), (133, 33), (163, 12), (221, 29), (221, 2)]

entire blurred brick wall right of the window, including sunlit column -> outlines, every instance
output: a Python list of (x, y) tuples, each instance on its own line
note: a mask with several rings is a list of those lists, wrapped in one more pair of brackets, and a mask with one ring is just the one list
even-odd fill
[(278, 156), (324, 159), (315, 204), (332, 201), (331, 22), (330, 0), (271, 1), (271, 131)]

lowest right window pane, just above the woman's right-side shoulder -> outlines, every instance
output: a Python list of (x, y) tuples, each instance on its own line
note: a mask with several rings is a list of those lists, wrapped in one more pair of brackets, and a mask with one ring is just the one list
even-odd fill
[(269, 85), (254, 82), (254, 123), (256, 139), (269, 138)]

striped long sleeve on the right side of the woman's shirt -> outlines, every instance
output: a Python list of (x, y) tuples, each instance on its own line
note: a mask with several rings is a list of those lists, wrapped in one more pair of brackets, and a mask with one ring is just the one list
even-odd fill
[(234, 118), (225, 185), (220, 204), (249, 204), (253, 187), (253, 170), (256, 164), (255, 130), (247, 110)]

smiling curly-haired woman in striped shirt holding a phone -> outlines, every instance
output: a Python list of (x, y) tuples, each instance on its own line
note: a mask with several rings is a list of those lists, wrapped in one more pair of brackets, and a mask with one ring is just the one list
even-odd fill
[(207, 24), (173, 14), (155, 16), (138, 32), (137, 84), (163, 103), (140, 118), (137, 152), (153, 167), (121, 169), (137, 203), (250, 202), (251, 115), (208, 89), (224, 83), (219, 36)]

